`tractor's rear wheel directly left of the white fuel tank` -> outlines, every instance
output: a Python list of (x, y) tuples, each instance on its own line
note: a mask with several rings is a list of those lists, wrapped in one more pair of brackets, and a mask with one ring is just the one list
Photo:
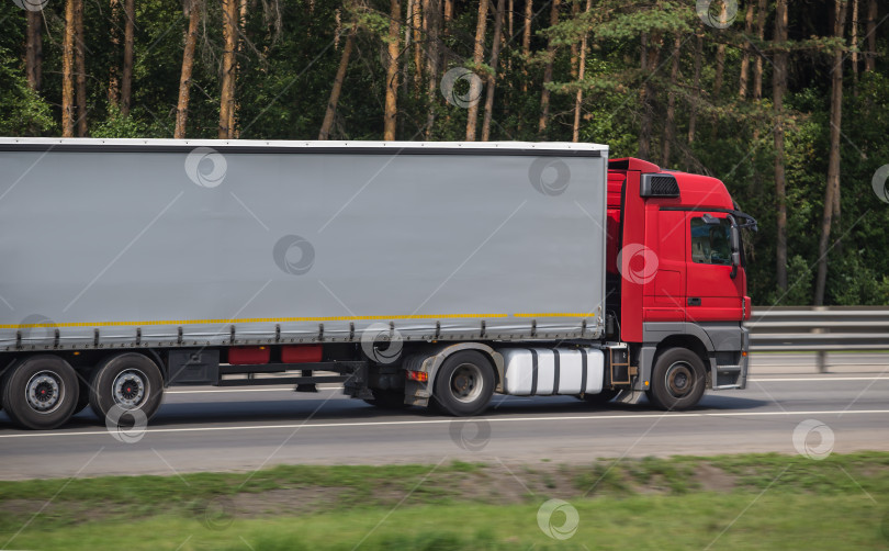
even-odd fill
[(482, 352), (454, 352), (438, 369), (432, 400), (447, 414), (477, 415), (487, 408), (493, 395), (494, 367)]

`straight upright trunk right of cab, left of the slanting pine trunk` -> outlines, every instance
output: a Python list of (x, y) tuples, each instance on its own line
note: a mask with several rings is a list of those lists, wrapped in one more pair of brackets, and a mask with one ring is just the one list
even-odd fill
[[(787, 42), (787, 1), (777, 0), (775, 12), (775, 43)], [(777, 202), (777, 246), (775, 274), (778, 289), (787, 291), (787, 198), (784, 170), (784, 94), (787, 90), (787, 50), (777, 46), (775, 70), (772, 76), (772, 95), (775, 103), (775, 200)]]

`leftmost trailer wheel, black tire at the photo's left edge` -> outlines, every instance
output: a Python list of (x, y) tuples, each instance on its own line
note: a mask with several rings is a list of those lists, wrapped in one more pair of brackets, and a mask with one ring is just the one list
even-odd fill
[(3, 373), (3, 407), (22, 428), (48, 430), (68, 421), (80, 389), (71, 366), (52, 355), (30, 356)]

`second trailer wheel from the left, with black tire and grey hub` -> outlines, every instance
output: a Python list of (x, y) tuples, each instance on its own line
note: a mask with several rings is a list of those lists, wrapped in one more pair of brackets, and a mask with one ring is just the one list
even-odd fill
[(139, 409), (150, 419), (164, 398), (164, 376), (157, 364), (137, 352), (112, 356), (100, 363), (90, 382), (90, 407), (105, 419), (115, 405)]

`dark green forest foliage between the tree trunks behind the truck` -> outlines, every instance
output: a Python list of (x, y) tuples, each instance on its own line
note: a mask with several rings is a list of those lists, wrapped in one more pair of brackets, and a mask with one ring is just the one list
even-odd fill
[[(406, 15), (407, 2), (402, 2)], [(398, 93), (400, 139), (459, 140), (465, 136), (468, 111), (446, 102), (439, 92), (441, 75), (450, 68), (471, 67), (480, 75), (495, 70), (488, 54), (493, 41), (493, 12), (488, 15), (485, 59), (472, 67), (477, 18), (476, 2), (455, 2), (453, 19), (434, 43), (420, 32), (410, 47), (402, 41)], [(759, 233), (747, 236), (749, 289), (755, 304), (808, 304), (812, 300), (818, 240), (824, 203), (830, 150), (832, 0), (790, 3), (790, 41), (770, 40), (774, 2), (769, 2), (763, 41), (744, 33), (743, 9), (727, 29), (705, 25), (695, 2), (652, 0), (626, 2), (595, 0), (585, 13), (584, 0), (562, 2), (559, 23), (550, 25), (545, 0), (532, 3), (530, 54), (522, 52), (520, 7), (516, 4), (513, 34), (504, 24), (500, 63), (496, 68), (492, 139), (570, 140), (574, 101), (583, 92), (581, 139), (605, 143), (611, 157), (639, 154), (640, 127), (649, 111), (652, 121), (651, 159), (663, 158), (667, 134), (665, 112), (674, 98), (675, 128), (669, 168), (722, 179), (738, 203), (759, 222)], [(713, 2), (719, 7), (720, 2)], [(223, 36), (218, 2), (205, 2), (188, 111), (189, 138), (215, 138), (218, 127)], [(0, 134), (58, 135), (61, 103), (61, 38), (64, 1), (44, 9), (43, 82), (38, 92), (24, 76), (26, 19), (13, 2), (0, 3)], [(330, 88), (342, 53), (345, 33), (352, 22), (358, 35), (339, 98), (331, 137), (379, 139), (383, 128), (385, 59), (390, 3), (384, 0), (279, 0), (248, 2), (241, 49), (237, 54), (237, 132), (246, 139), (314, 139), (324, 117)], [(885, 8), (880, 8), (882, 16)], [(112, 22), (106, 4), (85, 3), (88, 134), (95, 137), (172, 137), (188, 21), (180, 2), (136, 2), (133, 109), (121, 116), (109, 101), (109, 76), (120, 68), (122, 47), (110, 41)], [(864, 25), (864, 22), (862, 22)], [(403, 25), (402, 38), (404, 38)], [(423, 31), (421, 29), (419, 31)], [(695, 83), (697, 34), (702, 38), (700, 81)], [(848, 33), (847, 33), (848, 34)], [(864, 36), (864, 27), (859, 37)], [(588, 37), (585, 76), (576, 76), (577, 48)], [(656, 57), (654, 72), (641, 67), (642, 37)], [(680, 40), (678, 78), (671, 81), (674, 37)], [(889, 204), (870, 189), (875, 171), (889, 164), (889, 33), (877, 29), (877, 70), (859, 70), (853, 82), (845, 60), (841, 145), (841, 217), (834, 221), (829, 251), (828, 304), (889, 304)], [(749, 74), (745, 98), (739, 95), (745, 40), (754, 45), (751, 71), (763, 55), (763, 98), (753, 99)], [(417, 42), (419, 41), (419, 42)], [(414, 59), (420, 46), (420, 66)], [(555, 46), (550, 117), (538, 132), (548, 45)], [(436, 48), (438, 46), (438, 48)], [(790, 56), (785, 170), (787, 175), (788, 291), (776, 285), (776, 195), (774, 185), (775, 115), (770, 57), (778, 49)], [(859, 49), (864, 43), (859, 42)], [(427, 54), (438, 49), (436, 79), (425, 74)], [(724, 52), (721, 88), (719, 64)], [(651, 58), (651, 57), (650, 57)], [(418, 69), (424, 75), (415, 80)], [(860, 69), (860, 68), (859, 68)], [(120, 71), (119, 71), (120, 72)], [(651, 87), (643, 104), (640, 90)], [(458, 86), (465, 86), (460, 81)], [(458, 93), (464, 91), (462, 88)], [(696, 121), (694, 139), (689, 126)], [(480, 116), (481, 120), (481, 116)], [(431, 127), (427, 124), (431, 121)]]

